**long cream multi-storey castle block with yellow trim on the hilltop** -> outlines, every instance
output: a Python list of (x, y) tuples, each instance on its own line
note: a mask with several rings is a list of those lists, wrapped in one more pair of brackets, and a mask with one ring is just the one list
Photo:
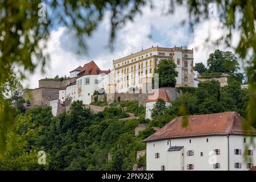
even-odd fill
[(176, 86), (193, 86), (193, 49), (182, 47), (151, 47), (129, 56), (113, 60), (112, 82), (117, 93), (143, 90), (151, 86), (154, 70), (162, 59), (171, 59), (177, 65)]

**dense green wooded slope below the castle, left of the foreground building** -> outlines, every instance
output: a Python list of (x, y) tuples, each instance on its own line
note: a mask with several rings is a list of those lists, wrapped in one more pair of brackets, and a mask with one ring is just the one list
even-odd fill
[[(146, 122), (144, 119), (119, 121), (128, 115), (116, 107), (93, 114), (80, 101), (73, 102), (69, 113), (57, 117), (52, 117), (50, 107), (22, 111), (17, 110), (12, 134), (23, 143), (15, 148), (15, 154), (10, 156), (7, 151), (0, 169), (131, 170), (136, 152), (146, 149), (142, 139), (154, 132), (147, 129), (135, 137), (134, 129)], [(47, 165), (38, 164), (40, 150), (46, 151)]]

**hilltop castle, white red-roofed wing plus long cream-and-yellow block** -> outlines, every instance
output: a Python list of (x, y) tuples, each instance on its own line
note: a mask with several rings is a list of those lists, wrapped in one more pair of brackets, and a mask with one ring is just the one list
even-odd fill
[(101, 71), (94, 61), (73, 69), (70, 78), (76, 81), (59, 90), (59, 100), (71, 98), (72, 102), (81, 100), (90, 104), (94, 91), (100, 89), (105, 93), (147, 93), (152, 89), (154, 70), (162, 59), (171, 59), (177, 65), (176, 86), (193, 86), (193, 49), (151, 47), (113, 60), (111, 72)]

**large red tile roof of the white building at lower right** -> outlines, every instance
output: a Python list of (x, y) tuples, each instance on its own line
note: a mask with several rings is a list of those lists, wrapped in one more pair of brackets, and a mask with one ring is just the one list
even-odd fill
[[(182, 126), (183, 117), (177, 117), (143, 142), (207, 135), (256, 135), (256, 130), (236, 112), (188, 115), (187, 118), (187, 127)], [(245, 132), (242, 125), (249, 126), (250, 131)]]

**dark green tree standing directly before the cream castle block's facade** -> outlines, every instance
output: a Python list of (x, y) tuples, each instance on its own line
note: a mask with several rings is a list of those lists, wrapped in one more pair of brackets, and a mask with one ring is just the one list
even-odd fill
[(162, 59), (159, 62), (158, 67), (155, 69), (155, 73), (159, 74), (159, 87), (175, 87), (176, 77), (178, 76), (175, 68), (176, 64), (171, 59)]

